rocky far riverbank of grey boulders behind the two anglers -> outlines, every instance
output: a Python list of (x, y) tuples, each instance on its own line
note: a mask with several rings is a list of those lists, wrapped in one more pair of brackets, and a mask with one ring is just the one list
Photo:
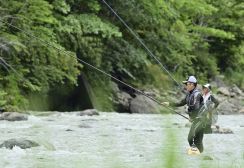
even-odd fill
[[(219, 114), (236, 115), (244, 114), (244, 92), (235, 84), (228, 86), (223, 82), (213, 81), (213, 95), (220, 102)], [(201, 84), (198, 85), (201, 91)], [(165, 113), (170, 112), (167, 108), (136, 92), (121, 91), (116, 84), (113, 86), (115, 99), (113, 102), (118, 107), (118, 112), (129, 113)], [(160, 102), (179, 102), (185, 98), (185, 92), (179, 89), (159, 91), (157, 89), (142, 90), (142, 92)], [(185, 113), (186, 107), (175, 109), (179, 113)]]

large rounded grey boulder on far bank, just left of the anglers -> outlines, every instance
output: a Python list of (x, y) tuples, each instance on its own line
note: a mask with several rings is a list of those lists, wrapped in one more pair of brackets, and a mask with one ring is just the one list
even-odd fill
[(160, 113), (160, 106), (144, 95), (136, 95), (130, 102), (131, 113)]

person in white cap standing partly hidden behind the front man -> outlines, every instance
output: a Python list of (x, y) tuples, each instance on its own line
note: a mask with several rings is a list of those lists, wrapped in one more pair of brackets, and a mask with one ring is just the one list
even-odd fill
[(206, 126), (204, 129), (204, 133), (208, 134), (208, 133), (212, 133), (212, 129), (211, 129), (211, 125), (215, 124), (214, 121), (215, 118), (214, 116), (216, 114), (215, 109), (218, 107), (219, 105), (219, 101), (212, 95), (211, 92), (211, 85), (210, 84), (205, 84), (202, 86), (202, 93), (203, 93), (203, 102), (204, 105), (207, 108), (207, 114), (206, 114)]

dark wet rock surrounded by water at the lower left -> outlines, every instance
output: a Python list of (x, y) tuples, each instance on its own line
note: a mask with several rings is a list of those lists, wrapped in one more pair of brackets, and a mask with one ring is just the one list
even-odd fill
[(26, 139), (9, 139), (9, 140), (4, 141), (0, 145), (0, 148), (5, 147), (8, 149), (13, 149), (14, 146), (18, 146), (21, 149), (26, 149), (26, 148), (37, 147), (37, 146), (39, 146), (39, 144), (34, 141), (26, 140)]

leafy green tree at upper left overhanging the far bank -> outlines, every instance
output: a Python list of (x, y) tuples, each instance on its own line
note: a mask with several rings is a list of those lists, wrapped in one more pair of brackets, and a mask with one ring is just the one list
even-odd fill
[[(1, 29), (0, 34), (9, 50), (2, 49), (1, 58), (14, 69), (14, 71), (1, 72), (3, 74), (2, 87), (9, 92), (9, 97), (12, 97), (9, 104), (16, 109), (15, 107), (22, 106), (21, 101), (15, 101), (18, 97), (24, 101), (24, 97), (29, 93), (47, 93), (50, 86), (57, 83), (76, 84), (80, 65), (75, 54), (66, 51), (57, 42), (54, 29), (59, 22), (52, 16), (52, 5), (44, 0), (26, 2), (16, 0), (1, 2), (1, 7), (1, 11), (5, 11), (1, 13), (1, 16), (5, 22), (9, 23), (2, 23), (4, 29)], [(43, 45), (43, 42), (20, 29), (31, 32), (33, 36), (37, 36), (71, 56)]]

